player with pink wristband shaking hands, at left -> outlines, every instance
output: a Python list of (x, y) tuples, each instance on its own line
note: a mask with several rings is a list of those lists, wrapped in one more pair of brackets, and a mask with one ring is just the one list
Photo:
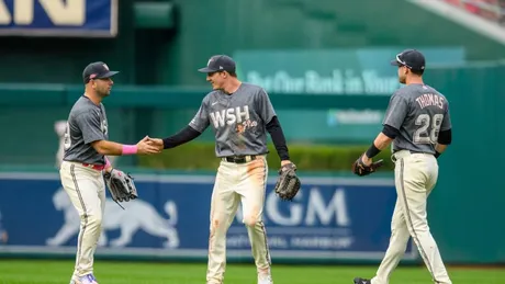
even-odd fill
[(93, 276), (93, 254), (101, 234), (105, 206), (105, 185), (102, 171), (112, 166), (105, 157), (155, 154), (147, 137), (137, 145), (122, 145), (108, 140), (108, 123), (102, 100), (111, 93), (112, 76), (104, 63), (92, 63), (82, 77), (86, 92), (74, 104), (65, 132), (64, 158), (60, 166), (61, 185), (80, 215), (76, 266), (70, 284), (97, 284)]

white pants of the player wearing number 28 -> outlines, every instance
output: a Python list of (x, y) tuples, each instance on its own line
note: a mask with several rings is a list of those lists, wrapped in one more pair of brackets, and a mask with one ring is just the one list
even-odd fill
[(372, 284), (388, 284), (405, 253), (412, 237), (433, 281), (450, 284), (437, 243), (429, 231), (426, 202), (438, 179), (438, 163), (433, 155), (402, 150), (393, 155), (396, 205), (391, 221), (391, 239)]

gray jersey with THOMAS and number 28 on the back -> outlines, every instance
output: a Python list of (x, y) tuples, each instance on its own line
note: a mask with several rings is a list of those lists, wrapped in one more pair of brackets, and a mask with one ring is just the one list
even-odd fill
[(438, 133), (451, 128), (449, 102), (429, 86), (408, 84), (391, 96), (383, 124), (400, 130), (393, 151), (435, 154)]

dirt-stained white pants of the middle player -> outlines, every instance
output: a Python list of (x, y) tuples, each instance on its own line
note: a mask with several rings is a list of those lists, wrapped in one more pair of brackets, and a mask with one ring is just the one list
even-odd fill
[(242, 202), (258, 273), (270, 273), (267, 235), (261, 220), (268, 167), (265, 156), (246, 163), (222, 161), (212, 192), (206, 282), (223, 283), (226, 269), (226, 232)]

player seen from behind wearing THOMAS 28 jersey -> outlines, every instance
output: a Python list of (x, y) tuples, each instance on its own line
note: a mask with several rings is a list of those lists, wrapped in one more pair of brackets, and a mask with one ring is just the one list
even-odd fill
[(355, 284), (388, 284), (412, 237), (435, 283), (450, 284), (437, 243), (426, 219), (426, 202), (438, 178), (437, 158), (451, 144), (451, 121), (447, 99), (423, 82), (425, 57), (415, 49), (396, 55), (405, 84), (392, 96), (383, 130), (359, 159), (363, 168), (393, 143), (397, 193), (391, 221), (391, 239), (384, 259), (371, 280), (355, 279)]

